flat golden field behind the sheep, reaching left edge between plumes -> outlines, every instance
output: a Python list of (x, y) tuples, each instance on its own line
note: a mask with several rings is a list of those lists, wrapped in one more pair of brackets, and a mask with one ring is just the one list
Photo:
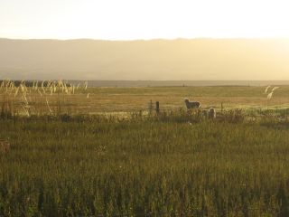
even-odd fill
[[(243, 109), (270, 109), (289, 107), (289, 86), (279, 86), (275, 90), (273, 98), (266, 99), (266, 87), (246, 86), (212, 86), (212, 87), (140, 87), (140, 88), (88, 88), (79, 87), (74, 94), (55, 92), (50, 90), (45, 94), (41, 90), (32, 91), (28, 88), (26, 99), (32, 107), (33, 113), (50, 114), (46, 99), (54, 113), (62, 107), (63, 113), (73, 114), (97, 114), (103, 112), (135, 112), (147, 110), (150, 100), (160, 101), (161, 109), (185, 109), (184, 98), (198, 100), (202, 108), (214, 107), (220, 109), (221, 103), (224, 108)], [(89, 94), (89, 98), (87, 98)], [(15, 110), (23, 114), (23, 94), (18, 92), (14, 97), (0, 91), (0, 104), (5, 98), (11, 98), (16, 105)], [(37, 110), (37, 112), (35, 112)]]

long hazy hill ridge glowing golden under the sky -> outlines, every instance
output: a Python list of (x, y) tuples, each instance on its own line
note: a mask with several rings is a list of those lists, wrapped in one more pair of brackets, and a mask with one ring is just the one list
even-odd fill
[(0, 39), (0, 79), (289, 80), (289, 40)]

